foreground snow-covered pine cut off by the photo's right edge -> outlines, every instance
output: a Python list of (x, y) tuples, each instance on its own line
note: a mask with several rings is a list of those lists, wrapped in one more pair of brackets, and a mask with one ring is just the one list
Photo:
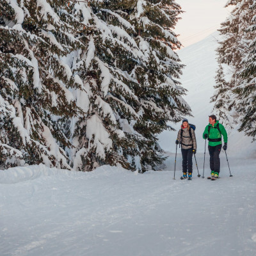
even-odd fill
[(239, 70), (242, 83), (234, 89), (237, 94), (237, 111), (241, 114), (241, 127), (246, 135), (256, 140), (256, 1), (250, 6), (252, 10), (252, 25), (246, 29), (253, 33), (254, 38), (248, 42), (248, 54), (241, 61), (243, 68)]

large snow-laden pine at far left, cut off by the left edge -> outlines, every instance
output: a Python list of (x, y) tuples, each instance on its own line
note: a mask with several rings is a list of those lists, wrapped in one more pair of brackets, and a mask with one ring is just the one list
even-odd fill
[[(80, 47), (63, 0), (0, 3), (0, 162), (70, 168), (63, 125), (80, 111), (61, 56)], [(76, 31), (74, 30), (76, 24)]]

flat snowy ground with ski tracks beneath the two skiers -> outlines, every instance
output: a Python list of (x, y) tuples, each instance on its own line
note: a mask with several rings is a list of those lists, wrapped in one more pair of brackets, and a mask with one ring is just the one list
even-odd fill
[[(215, 256), (256, 253), (256, 160), (221, 155), (221, 179), (43, 165), (0, 172), (1, 256)], [(196, 157), (200, 174), (204, 154)], [(209, 175), (209, 158), (205, 175)]]

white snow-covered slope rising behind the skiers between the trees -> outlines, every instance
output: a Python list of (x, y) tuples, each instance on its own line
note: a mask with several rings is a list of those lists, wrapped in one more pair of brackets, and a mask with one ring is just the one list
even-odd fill
[[(220, 35), (214, 32), (204, 40), (178, 52), (182, 63), (186, 65), (181, 82), (182, 86), (188, 90), (188, 95), (184, 99), (191, 106), (193, 117), (186, 117), (191, 124), (196, 125), (198, 152), (204, 152), (205, 141), (202, 140), (202, 133), (208, 124), (208, 116), (214, 114), (212, 111), (214, 103), (210, 101), (214, 94), (214, 76), (218, 68), (215, 52), (218, 47), (218, 38), (220, 39)], [(179, 129), (180, 124), (174, 127)], [(228, 154), (255, 157), (256, 145), (251, 143), (251, 138), (237, 130), (228, 131), (228, 136)], [(159, 144), (164, 150), (175, 152), (176, 138), (177, 132), (165, 131), (159, 135)]]

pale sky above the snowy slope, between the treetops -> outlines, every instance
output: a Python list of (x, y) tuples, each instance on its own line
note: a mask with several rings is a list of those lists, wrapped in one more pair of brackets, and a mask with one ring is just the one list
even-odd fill
[(227, 0), (176, 0), (185, 12), (175, 33), (184, 47), (198, 42), (220, 28), (232, 8), (224, 8)]

